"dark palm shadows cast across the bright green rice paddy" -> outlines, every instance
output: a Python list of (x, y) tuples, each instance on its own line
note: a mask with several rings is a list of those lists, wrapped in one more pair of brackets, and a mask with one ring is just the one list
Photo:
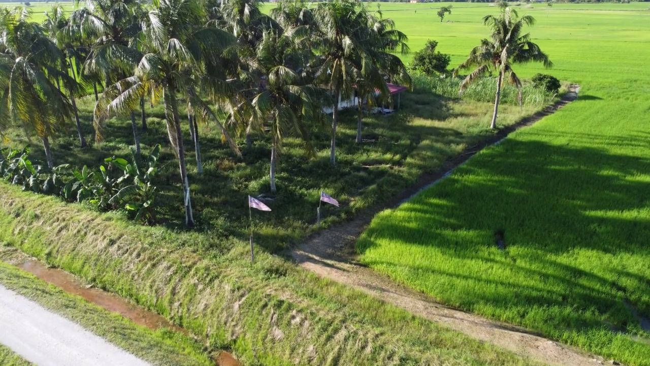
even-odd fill
[[(647, 175), (650, 160), (584, 147), (608, 136), (569, 138), (578, 147), (507, 139), (402, 206), (400, 217), (409, 221), (380, 216), (357, 249), (363, 255), (378, 240), (418, 253), (419, 247), (431, 247), (448, 264), (373, 258), (367, 264), (400, 268), (406, 281), (430, 278), (411, 285), (463, 309), (519, 311), (524, 314), (519, 322), (535, 306), (560, 309), (556, 318), (546, 320), (547, 334), (603, 326), (637, 329), (638, 320), (622, 299), (629, 297), (647, 317), (650, 299), (640, 294), (650, 283), (650, 272), (623, 257), (647, 253), (650, 221), (643, 210), (650, 184), (635, 177)], [(647, 145), (642, 137), (621, 138), (632, 148)], [(503, 251), (495, 243), (499, 230), (504, 232)], [(602, 264), (595, 266), (594, 260)], [(530, 285), (531, 278), (539, 281)], [(456, 292), (440, 292), (436, 283), (449, 283), (445, 288)], [(471, 296), (463, 292), (469, 288), (474, 289)], [(574, 311), (567, 310), (574, 305)]]

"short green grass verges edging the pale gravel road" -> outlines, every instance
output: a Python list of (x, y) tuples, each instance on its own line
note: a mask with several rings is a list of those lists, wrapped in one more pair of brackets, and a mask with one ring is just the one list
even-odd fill
[[(0, 244), (0, 259), (12, 255), (16, 250)], [(7, 289), (39, 303), (43, 307), (83, 326), (86, 330), (107, 339), (110, 343), (127, 350), (157, 366), (208, 366), (213, 361), (203, 352), (203, 345), (186, 335), (172, 330), (151, 331), (136, 326), (121, 315), (114, 315), (100, 307), (73, 296), (57, 287), (27, 274), (17, 268), (0, 262), (0, 284)], [(0, 346), (0, 364), (31, 365), (9, 355)], [(6, 356), (3, 356), (6, 355)], [(8, 361), (3, 359), (5, 357)], [(14, 363), (11, 363), (14, 362)]]

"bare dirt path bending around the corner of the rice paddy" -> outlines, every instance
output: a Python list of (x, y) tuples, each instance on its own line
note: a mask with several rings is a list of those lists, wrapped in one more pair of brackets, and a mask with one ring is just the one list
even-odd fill
[(571, 85), (570, 91), (562, 100), (513, 126), (500, 130), (494, 137), (486, 139), (480, 145), (467, 148), (456, 158), (448, 160), (443, 168), (436, 173), (422, 175), (413, 187), (403, 191), (385, 206), (377, 207), (367, 214), (358, 216), (353, 221), (310, 236), (303, 244), (291, 249), (289, 254), (300, 266), (322, 277), (350, 285), (385, 302), (401, 307), (413, 315), (461, 331), (480, 341), (501, 346), (520, 356), (551, 365), (585, 366), (604, 363), (603, 358), (545, 339), (525, 328), (487, 320), (478, 315), (437, 303), (434, 299), (400, 285), (387, 275), (367, 268), (355, 260), (354, 243), (376, 212), (384, 208), (398, 206), (422, 189), (447, 176), (476, 152), (497, 143), (519, 128), (530, 126), (543, 117), (555, 113), (558, 109), (576, 100), (579, 89), (579, 85)]

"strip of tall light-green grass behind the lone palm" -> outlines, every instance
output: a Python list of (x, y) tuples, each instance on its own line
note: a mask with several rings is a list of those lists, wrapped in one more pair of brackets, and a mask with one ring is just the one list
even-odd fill
[[(433, 92), (445, 98), (467, 100), (472, 102), (494, 103), (495, 94), (497, 94), (497, 78), (486, 77), (476, 81), (467, 88), (462, 95), (459, 94), (460, 83), (459, 77), (452, 76), (427, 76), (424, 74), (413, 74), (413, 89), (417, 92)], [(555, 94), (546, 91), (543, 88), (533, 87), (530, 83), (524, 83), (521, 87), (523, 96), (523, 105), (540, 107), (549, 104)], [(512, 85), (504, 85), (501, 90), (501, 103), (510, 106), (518, 106), (517, 88)]]

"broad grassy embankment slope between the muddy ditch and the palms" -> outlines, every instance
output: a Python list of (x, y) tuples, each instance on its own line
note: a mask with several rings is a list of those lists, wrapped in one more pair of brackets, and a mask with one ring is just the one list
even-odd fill
[[(0, 240), (133, 299), (244, 365), (536, 365), (246, 242), (0, 190)], [(206, 247), (233, 247), (220, 253)]]

